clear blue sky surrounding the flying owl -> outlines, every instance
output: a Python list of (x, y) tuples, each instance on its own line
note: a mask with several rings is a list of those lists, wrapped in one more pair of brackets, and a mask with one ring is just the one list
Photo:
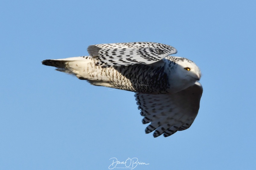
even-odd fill
[[(148, 164), (138, 170), (255, 169), (255, 9), (253, 0), (0, 1), (0, 169), (108, 169), (111, 158)], [(200, 67), (189, 129), (154, 138), (133, 92), (41, 64), (135, 41), (171, 45)]]

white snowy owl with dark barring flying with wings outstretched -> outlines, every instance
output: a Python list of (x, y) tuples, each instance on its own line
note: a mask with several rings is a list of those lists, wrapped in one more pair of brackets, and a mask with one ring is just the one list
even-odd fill
[(44, 60), (44, 65), (73, 74), (92, 85), (135, 92), (144, 116), (150, 123), (146, 133), (168, 137), (188, 129), (196, 118), (203, 93), (197, 65), (177, 50), (154, 42), (96, 44), (89, 56)]

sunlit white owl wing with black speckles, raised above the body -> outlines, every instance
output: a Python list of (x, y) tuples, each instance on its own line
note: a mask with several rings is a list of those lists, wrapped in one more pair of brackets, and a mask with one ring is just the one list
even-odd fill
[(114, 65), (151, 64), (167, 55), (176, 54), (172, 46), (154, 42), (129, 42), (96, 44), (87, 48), (92, 57), (99, 60), (96, 65), (111, 67)]

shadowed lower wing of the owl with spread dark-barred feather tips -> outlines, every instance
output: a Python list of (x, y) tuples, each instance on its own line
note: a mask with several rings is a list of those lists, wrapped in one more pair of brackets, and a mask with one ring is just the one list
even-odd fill
[(142, 123), (151, 122), (146, 133), (155, 130), (154, 137), (162, 134), (168, 137), (178, 130), (188, 129), (198, 113), (202, 93), (199, 82), (174, 94), (136, 93), (140, 115), (144, 116)]

